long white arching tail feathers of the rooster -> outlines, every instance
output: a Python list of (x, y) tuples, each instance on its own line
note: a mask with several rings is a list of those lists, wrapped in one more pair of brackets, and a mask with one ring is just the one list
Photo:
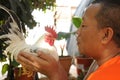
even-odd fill
[(7, 44), (5, 51), (6, 53), (11, 53), (11, 57), (13, 58), (13, 55), (21, 50), (19, 47), (23, 48), (22, 45), (26, 45), (23, 28), (19, 18), (13, 11), (2, 5), (0, 5), (0, 9), (10, 16), (5, 24), (0, 26), (0, 41)]

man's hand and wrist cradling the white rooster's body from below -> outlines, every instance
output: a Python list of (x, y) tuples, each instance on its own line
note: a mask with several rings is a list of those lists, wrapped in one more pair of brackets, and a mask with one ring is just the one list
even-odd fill
[(20, 52), (17, 61), (27, 69), (45, 74), (50, 80), (67, 80), (67, 73), (50, 54), (38, 52), (38, 56)]

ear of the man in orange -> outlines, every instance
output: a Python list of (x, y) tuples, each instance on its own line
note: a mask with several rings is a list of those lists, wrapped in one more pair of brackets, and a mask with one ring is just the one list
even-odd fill
[(103, 37), (102, 37), (102, 43), (107, 44), (109, 41), (112, 40), (113, 37), (113, 29), (110, 27), (103, 29)]

